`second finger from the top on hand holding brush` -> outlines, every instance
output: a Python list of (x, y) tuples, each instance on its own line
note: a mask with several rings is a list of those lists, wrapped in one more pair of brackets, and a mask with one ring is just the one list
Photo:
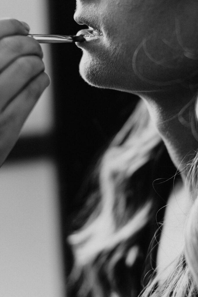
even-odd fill
[(0, 40), (0, 72), (20, 56), (37, 55), (43, 57), (39, 43), (27, 36), (8, 36)]

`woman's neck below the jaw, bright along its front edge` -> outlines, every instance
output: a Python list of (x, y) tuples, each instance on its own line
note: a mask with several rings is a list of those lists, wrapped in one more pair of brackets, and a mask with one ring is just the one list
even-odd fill
[(183, 180), (186, 180), (188, 174), (186, 165), (198, 148), (198, 138), (195, 138), (196, 94), (197, 91), (182, 89), (180, 92), (177, 90), (166, 94), (141, 95)]

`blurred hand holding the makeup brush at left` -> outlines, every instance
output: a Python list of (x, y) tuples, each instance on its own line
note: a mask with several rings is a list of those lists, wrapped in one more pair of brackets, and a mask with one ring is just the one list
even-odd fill
[(0, 20), (0, 166), (16, 143), (21, 127), (49, 85), (42, 49), (27, 37), (24, 22)]

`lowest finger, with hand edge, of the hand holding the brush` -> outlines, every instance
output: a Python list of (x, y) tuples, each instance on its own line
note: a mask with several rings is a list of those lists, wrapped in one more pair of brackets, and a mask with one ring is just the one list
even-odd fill
[(42, 72), (0, 113), (0, 165), (18, 139), (20, 129), (50, 79)]

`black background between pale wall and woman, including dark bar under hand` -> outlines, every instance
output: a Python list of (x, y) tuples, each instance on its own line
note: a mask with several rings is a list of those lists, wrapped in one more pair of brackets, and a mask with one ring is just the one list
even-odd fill
[[(49, 0), (50, 33), (72, 35), (86, 26), (73, 19), (75, 1)], [(49, 155), (56, 159), (60, 181), (60, 211), (65, 274), (69, 215), (83, 206), (77, 195), (89, 169), (131, 114), (137, 97), (89, 86), (79, 75), (82, 52), (75, 44), (53, 44), (52, 67), (56, 127), (46, 137), (20, 138), (9, 160)]]

